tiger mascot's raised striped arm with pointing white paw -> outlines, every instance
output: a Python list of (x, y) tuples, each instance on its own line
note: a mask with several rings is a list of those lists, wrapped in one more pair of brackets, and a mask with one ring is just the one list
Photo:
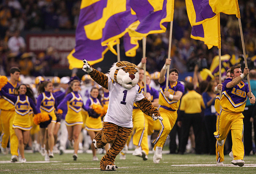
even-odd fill
[(83, 60), (83, 62), (84, 65), (82, 69), (87, 72), (96, 83), (101, 85), (103, 88), (108, 89), (108, 77), (102, 72), (92, 68), (85, 59)]

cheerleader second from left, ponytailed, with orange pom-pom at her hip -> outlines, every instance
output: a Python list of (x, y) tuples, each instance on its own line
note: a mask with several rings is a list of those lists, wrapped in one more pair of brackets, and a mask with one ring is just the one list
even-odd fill
[[(41, 135), (41, 154), (44, 155), (46, 145), (45, 160), (49, 161), (50, 158), (53, 158), (53, 146), (54, 146), (54, 136), (53, 131), (56, 124), (57, 117), (55, 115), (55, 109), (57, 108), (57, 102), (55, 101), (56, 95), (53, 93), (53, 83), (50, 81), (43, 81), (39, 84), (38, 87), (38, 98), (37, 98), (37, 109), (40, 109), (40, 112), (47, 113), (52, 117), (51, 123), (45, 127), (40, 126), (40, 135)], [(50, 152), (49, 152), (50, 150)]]

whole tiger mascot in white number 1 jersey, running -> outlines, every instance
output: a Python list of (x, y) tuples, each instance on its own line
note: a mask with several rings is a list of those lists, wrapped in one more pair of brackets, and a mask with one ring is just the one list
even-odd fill
[(109, 69), (109, 77), (92, 68), (84, 59), (83, 70), (91, 78), (109, 90), (108, 111), (103, 119), (103, 128), (94, 140), (95, 148), (103, 148), (112, 143), (106, 155), (101, 158), (101, 170), (116, 170), (115, 158), (124, 148), (133, 129), (132, 108), (135, 102), (139, 109), (153, 118), (160, 119), (159, 111), (143, 96), (142, 89), (137, 85), (139, 80), (138, 67), (127, 61), (119, 61)]

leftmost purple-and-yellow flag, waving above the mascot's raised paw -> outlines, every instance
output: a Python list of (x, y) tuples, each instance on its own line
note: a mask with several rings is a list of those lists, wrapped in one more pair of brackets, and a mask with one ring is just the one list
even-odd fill
[(104, 54), (137, 21), (131, 14), (129, 0), (82, 0), (76, 29), (76, 45), (67, 56), (69, 69), (81, 68), (86, 59), (93, 65), (103, 60)]

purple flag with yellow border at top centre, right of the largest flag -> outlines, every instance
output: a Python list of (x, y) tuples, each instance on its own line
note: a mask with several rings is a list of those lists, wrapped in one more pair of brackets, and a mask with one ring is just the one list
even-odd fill
[(173, 21), (174, 0), (130, 0), (130, 8), (138, 20), (128, 27), (123, 40), (125, 55), (134, 57), (138, 40), (166, 31), (168, 22)]

